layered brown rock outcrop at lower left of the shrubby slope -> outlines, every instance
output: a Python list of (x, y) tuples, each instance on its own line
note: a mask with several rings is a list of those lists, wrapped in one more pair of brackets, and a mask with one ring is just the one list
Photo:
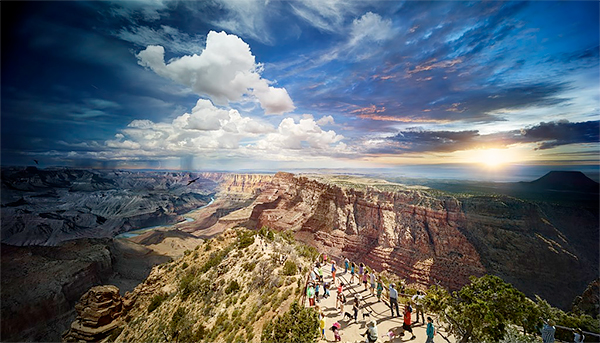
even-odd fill
[(122, 324), (123, 299), (115, 286), (96, 286), (81, 297), (75, 310), (77, 318), (63, 335), (63, 341), (97, 342)]

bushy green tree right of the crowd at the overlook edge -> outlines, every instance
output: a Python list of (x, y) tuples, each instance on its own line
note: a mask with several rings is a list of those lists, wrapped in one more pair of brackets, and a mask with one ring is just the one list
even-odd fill
[(451, 325), (461, 343), (501, 341), (509, 324), (533, 329), (538, 315), (525, 294), (492, 275), (471, 277), (470, 284), (452, 294), (433, 287), (426, 305)]

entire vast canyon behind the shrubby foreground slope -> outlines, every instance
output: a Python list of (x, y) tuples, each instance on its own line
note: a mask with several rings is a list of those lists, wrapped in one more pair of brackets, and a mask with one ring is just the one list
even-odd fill
[[(598, 278), (597, 207), (367, 177), (13, 167), (1, 211), (6, 340), (55, 341), (90, 287), (131, 291), (235, 227), (289, 232), (417, 288), (498, 275), (563, 309)], [(168, 226), (113, 238), (155, 225)]]

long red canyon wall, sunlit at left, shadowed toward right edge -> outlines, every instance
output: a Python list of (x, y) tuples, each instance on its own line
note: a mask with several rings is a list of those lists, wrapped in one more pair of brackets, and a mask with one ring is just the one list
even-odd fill
[(356, 182), (278, 173), (251, 219), (408, 283), (457, 289), (470, 275), (494, 274), (568, 308), (597, 277), (597, 213)]

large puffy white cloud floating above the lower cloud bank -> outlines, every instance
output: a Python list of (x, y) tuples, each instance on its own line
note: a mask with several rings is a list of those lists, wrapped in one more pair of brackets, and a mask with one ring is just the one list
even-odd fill
[(285, 88), (275, 88), (260, 75), (250, 46), (235, 35), (208, 33), (201, 54), (186, 55), (165, 63), (160, 45), (148, 46), (137, 55), (140, 65), (158, 75), (189, 86), (194, 92), (210, 97), (217, 105), (240, 101), (245, 94), (255, 96), (267, 114), (292, 111), (294, 104)]

